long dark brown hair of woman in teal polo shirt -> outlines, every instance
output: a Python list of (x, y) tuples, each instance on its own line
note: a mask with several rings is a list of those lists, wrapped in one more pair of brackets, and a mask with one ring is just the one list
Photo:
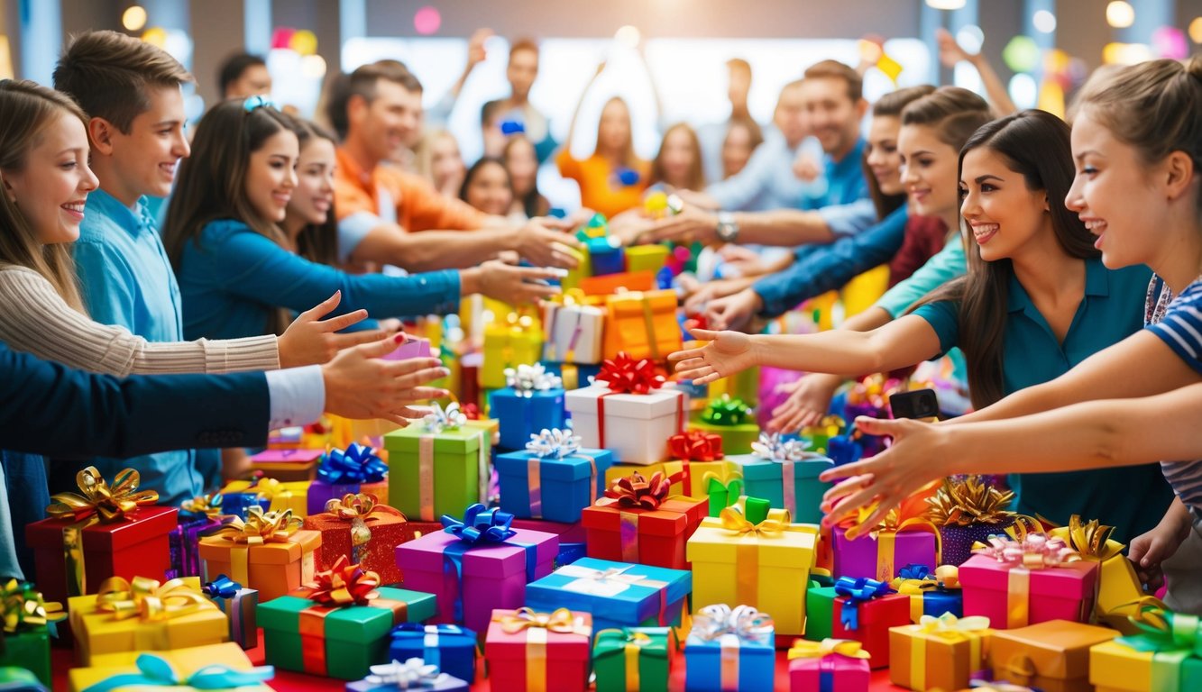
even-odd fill
[[(1045, 111), (1023, 111), (982, 126), (960, 150), (988, 148), (1023, 177), (1027, 189), (1047, 195), (1052, 232), (1070, 257), (1099, 257), (1094, 237), (1081, 219), (1064, 205), (1072, 186), (1072, 147), (1069, 125)], [(936, 288), (922, 303), (954, 300), (959, 303), (959, 344), (969, 364), (969, 392), (972, 405), (982, 408), (1005, 395), (1002, 356), (1008, 312), (1006, 303), (1013, 263), (1008, 260), (986, 262), (980, 252), (965, 252), (968, 274)], [(1013, 345), (1011, 345), (1013, 347)]]

